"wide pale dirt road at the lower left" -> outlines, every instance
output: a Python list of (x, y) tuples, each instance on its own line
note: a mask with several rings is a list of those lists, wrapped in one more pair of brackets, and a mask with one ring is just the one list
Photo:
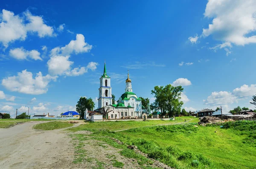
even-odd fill
[[(79, 168), (72, 164), (73, 144), (61, 129), (35, 131), (38, 121), (0, 129), (0, 169)], [(77, 126), (78, 124), (76, 124)]]

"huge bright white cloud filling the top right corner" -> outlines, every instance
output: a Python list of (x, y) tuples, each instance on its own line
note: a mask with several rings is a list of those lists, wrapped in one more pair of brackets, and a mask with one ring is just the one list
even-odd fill
[(204, 17), (213, 18), (203, 36), (212, 35), (216, 40), (236, 45), (256, 43), (255, 0), (209, 0)]

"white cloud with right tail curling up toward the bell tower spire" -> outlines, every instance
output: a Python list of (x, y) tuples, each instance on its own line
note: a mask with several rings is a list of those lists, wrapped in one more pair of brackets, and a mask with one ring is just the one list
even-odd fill
[(86, 67), (71, 69), (73, 61), (69, 60), (69, 56), (52, 56), (48, 62), (48, 71), (53, 75), (67, 75), (67, 76), (79, 76), (91, 69), (94, 71), (97, 68), (98, 63), (90, 62)]

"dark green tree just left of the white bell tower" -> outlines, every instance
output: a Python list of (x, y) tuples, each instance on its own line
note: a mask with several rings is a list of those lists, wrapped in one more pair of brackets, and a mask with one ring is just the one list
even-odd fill
[(95, 103), (92, 98), (80, 97), (76, 105), (76, 111), (79, 113), (80, 118), (84, 119), (85, 110), (93, 110)]

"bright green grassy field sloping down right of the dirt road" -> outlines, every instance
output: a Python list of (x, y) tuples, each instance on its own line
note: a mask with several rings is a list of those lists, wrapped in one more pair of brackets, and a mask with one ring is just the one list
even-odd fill
[[(179, 120), (183, 121), (183, 117)], [(178, 120), (168, 122), (98, 122), (70, 130), (90, 130), (94, 132), (93, 139), (105, 141), (110, 145), (114, 144), (108, 138), (114, 137), (126, 145), (137, 146), (149, 157), (177, 169), (256, 168), (256, 121), (230, 122), (222, 126), (196, 127), (196, 123), (156, 126), (178, 123)], [(120, 127), (128, 130), (111, 132), (120, 130)]]

